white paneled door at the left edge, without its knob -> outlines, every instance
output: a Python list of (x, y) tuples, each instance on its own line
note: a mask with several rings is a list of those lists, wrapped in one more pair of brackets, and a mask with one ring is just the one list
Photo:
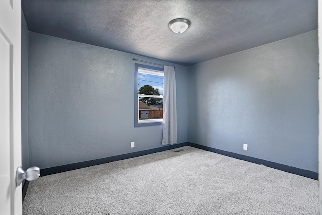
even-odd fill
[(0, 213), (22, 214), (21, 0), (0, 0)]

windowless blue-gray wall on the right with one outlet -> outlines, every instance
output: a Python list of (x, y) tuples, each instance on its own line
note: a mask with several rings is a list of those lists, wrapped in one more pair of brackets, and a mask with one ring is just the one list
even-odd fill
[(188, 107), (189, 142), (318, 172), (317, 30), (188, 67)]

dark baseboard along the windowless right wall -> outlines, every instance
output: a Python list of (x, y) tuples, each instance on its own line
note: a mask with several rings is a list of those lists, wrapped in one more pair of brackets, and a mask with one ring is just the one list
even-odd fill
[(210, 151), (210, 152), (215, 152), (215, 153), (225, 155), (225, 156), (228, 156), (228, 157), (232, 157), (232, 158), (237, 158), (239, 160), (244, 160), (244, 161), (248, 161), (248, 162), (252, 162), (252, 163), (256, 163), (256, 164), (262, 164), (264, 166), (271, 167), (273, 169), (278, 169), (278, 170), (282, 170), (284, 172), (289, 172), (289, 173), (292, 173), (292, 174), (295, 174), (295, 175), (300, 175), (300, 176), (304, 176), (304, 177), (311, 178), (311, 179), (314, 179), (314, 180), (318, 180), (318, 173), (317, 172), (312, 172), (312, 171), (308, 171), (308, 170), (305, 170), (305, 169), (299, 169), (299, 168), (296, 168), (296, 167), (287, 166), (287, 165), (284, 165), (284, 164), (279, 164), (279, 163), (274, 163), (274, 162), (271, 162), (271, 161), (266, 161), (266, 160), (262, 160), (262, 159), (258, 159), (258, 158), (253, 158), (253, 157), (249, 157), (249, 156), (246, 156), (246, 155), (240, 155), (240, 154), (236, 154), (236, 153), (233, 153), (233, 152), (227, 152), (227, 151), (224, 151), (224, 150), (215, 149), (215, 148), (211, 148), (211, 147), (208, 147), (208, 146), (202, 146), (202, 145), (195, 144), (195, 143), (188, 142), (188, 146), (192, 146), (192, 147), (195, 147), (195, 148), (198, 148), (198, 149), (203, 149), (203, 150)]

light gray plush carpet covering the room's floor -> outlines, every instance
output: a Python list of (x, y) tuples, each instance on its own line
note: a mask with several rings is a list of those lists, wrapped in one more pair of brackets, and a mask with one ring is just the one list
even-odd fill
[[(177, 152), (176, 152), (177, 151)], [(319, 214), (318, 181), (185, 146), (40, 177), (23, 214)]]

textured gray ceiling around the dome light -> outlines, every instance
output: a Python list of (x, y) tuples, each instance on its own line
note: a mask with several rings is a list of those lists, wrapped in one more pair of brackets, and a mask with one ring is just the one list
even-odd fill
[[(317, 0), (22, 0), (29, 31), (192, 65), (317, 29)], [(190, 20), (183, 34), (168, 23)]]

